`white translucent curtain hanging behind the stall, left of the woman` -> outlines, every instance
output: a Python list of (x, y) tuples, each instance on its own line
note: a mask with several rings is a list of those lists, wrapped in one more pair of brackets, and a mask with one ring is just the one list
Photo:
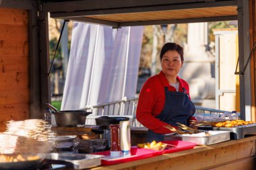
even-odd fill
[(140, 26), (113, 30), (75, 22), (61, 110), (134, 97), (142, 35)]

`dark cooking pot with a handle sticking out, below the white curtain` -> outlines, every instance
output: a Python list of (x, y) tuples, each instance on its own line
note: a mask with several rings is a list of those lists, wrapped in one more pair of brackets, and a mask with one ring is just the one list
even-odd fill
[(58, 111), (53, 105), (46, 103), (49, 108), (53, 109), (52, 114), (55, 115), (57, 126), (77, 126), (77, 124), (85, 124), (86, 116), (92, 112), (86, 110), (61, 110)]

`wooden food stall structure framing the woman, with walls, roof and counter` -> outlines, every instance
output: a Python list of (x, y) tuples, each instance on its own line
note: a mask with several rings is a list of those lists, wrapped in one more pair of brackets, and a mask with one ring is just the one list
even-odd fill
[[(3, 91), (0, 95), (0, 108), (3, 111), (1, 131), (5, 130), (5, 124), (11, 118), (16, 120), (42, 118), (45, 103), (51, 101), (48, 75), (48, 13), (51, 13), (51, 17), (104, 24), (113, 28), (238, 19), (239, 67), (240, 71), (243, 71), (256, 40), (255, 8), (255, 0), (113, 0), (108, 3), (101, 0), (95, 0), (94, 3), (84, 0), (58, 2), (2, 0), (0, 13), (5, 15), (0, 15), (0, 29), (3, 29), (0, 32), (2, 62), (0, 88)], [(21, 29), (15, 29), (17, 26), (21, 26)], [(13, 36), (9, 40), (11, 35), (20, 36)], [(240, 92), (241, 118), (255, 121), (255, 50), (249, 67), (240, 77)], [(78, 131), (84, 134), (86, 128)], [(56, 128), (55, 132), (77, 134), (77, 129)], [(132, 129), (132, 145), (145, 142), (145, 134), (145, 130)], [(256, 136), (247, 136), (238, 140), (195, 146), (186, 151), (163, 153), (92, 169), (255, 169), (255, 140)]]

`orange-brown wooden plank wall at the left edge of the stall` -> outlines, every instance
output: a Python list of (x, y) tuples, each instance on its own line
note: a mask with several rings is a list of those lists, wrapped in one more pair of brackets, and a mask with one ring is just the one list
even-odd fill
[(0, 132), (30, 115), (28, 11), (0, 8)]

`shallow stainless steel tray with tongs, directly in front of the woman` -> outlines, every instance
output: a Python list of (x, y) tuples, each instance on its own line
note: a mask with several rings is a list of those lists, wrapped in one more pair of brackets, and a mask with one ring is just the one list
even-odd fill
[(219, 131), (219, 130), (205, 130), (210, 133), (210, 136), (193, 136), (187, 134), (166, 134), (164, 140), (183, 140), (187, 142), (194, 142), (197, 145), (210, 145), (226, 140), (230, 140), (230, 132)]

